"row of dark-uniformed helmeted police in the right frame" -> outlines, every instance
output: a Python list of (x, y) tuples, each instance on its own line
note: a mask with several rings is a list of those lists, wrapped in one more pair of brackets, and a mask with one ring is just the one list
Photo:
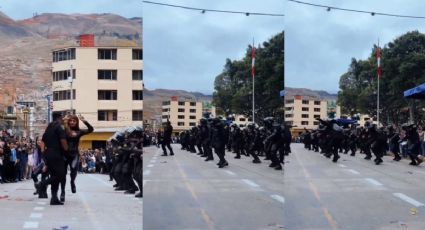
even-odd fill
[(327, 158), (332, 157), (333, 162), (338, 161), (339, 153), (350, 153), (350, 156), (360, 153), (365, 155), (366, 160), (371, 160), (373, 154), (375, 164), (379, 165), (387, 151), (394, 155), (394, 161), (400, 161), (400, 149), (404, 149), (411, 160), (410, 165), (422, 163), (418, 157), (420, 138), (414, 124), (404, 124), (401, 130), (396, 130), (392, 126), (378, 128), (369, 122), (360, 127), (344, 119), (318, 120), (320, 124), (317, 129), (306, 130), (302, 134), (304, 147), (320, 152)]

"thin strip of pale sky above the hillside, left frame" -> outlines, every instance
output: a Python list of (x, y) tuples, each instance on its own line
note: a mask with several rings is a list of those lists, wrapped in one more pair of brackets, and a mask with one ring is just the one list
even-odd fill
[(0, 11), (15, 20), (34, 13), (113, 13), (126, 18), (142, 16), (142, 0), (1, 0)]

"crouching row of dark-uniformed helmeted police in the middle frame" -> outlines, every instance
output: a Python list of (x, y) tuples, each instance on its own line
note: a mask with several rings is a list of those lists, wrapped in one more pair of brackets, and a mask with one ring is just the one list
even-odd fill
[(273, 117), (265, 118), (262, 126), (249, 123), (243, 128), (221, 118), (202, 118), (198, 126), (181, 132), (179, 140), (183, 150), (197, 153), (205, 161), (214, 160), (214, 150), (219, 168), (229, 165), (227, 149), (236, 159), (252, 157), (254, 164), (262, 163), (260, 156), (264, 156), (271, 168), (282, 170), (285, 155), (290, 153), (291, 133)]

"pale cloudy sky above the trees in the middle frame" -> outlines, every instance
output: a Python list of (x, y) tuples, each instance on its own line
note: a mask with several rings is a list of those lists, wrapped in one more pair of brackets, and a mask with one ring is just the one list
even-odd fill
[[(161, 0), (196, 8), (284, 13), (284, 0)], [(190, 11), (144, 4), (144, 83), (147, 89), (181, 89), (212, 94), (226, 58), (244, 57), (284, 30), (284, 17)], [(247, 76), (249, 77), (249, 76)]]

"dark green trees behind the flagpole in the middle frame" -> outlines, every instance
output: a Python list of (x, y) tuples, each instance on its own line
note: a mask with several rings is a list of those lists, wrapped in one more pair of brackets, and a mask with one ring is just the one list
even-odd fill
[[(226, 59), (223, 71), (215, 78), (213, 103), (217, 113), (228, 116), (252, 114), (252, 46), (241, 60)], [(256, 48), (255, 57), (255, 112), (257, 118), (283, 117), (284, 32)]]

